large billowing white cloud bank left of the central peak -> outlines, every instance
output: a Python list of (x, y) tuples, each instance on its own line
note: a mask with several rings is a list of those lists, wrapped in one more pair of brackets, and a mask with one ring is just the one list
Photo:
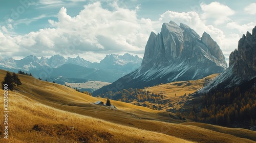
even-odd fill
[[(18, 54), (41, 56), (44, 53), (44, 56), (51, 56), (128, 52), (142, 55), (153, 30), (152, 21), (138, 19), (136, 10), (115, 7), (111, 11), (102, 8), (99, 2), (84, 6), (74, 17), (62, 7), (57, 18), (58, 21), (49, 19), (51, 28), (10, 37), (19, 49), (23, 49)], [(5, 27), (2, 29), (5, 30)]]

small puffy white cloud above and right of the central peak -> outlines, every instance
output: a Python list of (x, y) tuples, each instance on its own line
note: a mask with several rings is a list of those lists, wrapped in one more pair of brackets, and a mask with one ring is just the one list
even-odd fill
[(228, 6), (222, 5), (219, 2), (212, 2), (209, 5), (201, 3), (200, 7), (203, 11), (201, 18), (203, 20), (214, 20), (215, 25), (220, 25), (231, 19), (229, 16), (233, 15), (235, 12)]

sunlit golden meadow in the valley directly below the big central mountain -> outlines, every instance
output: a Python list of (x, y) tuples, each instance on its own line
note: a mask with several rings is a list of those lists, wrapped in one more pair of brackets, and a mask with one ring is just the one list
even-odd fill
[[(146, 91), (164, 95), (164, 99), (157, 103), (138, 103), (135, 101), (132, 104), (148, 108), (155, 107), (157, 110), (162, 111), (177, 111), (184, 106), (184, 103), (187, 102), (187, 100), (190, 100), (190, 94), (202, 88), (205, 84), (207, 84), (207, 82), (216, 78), (218, 75), (219, 74), (213, 74), (203, 79), (194, 81), (178, 81), (147, 87), (145, 88)], [(186, 96), (184, 96), (185, 94)]]

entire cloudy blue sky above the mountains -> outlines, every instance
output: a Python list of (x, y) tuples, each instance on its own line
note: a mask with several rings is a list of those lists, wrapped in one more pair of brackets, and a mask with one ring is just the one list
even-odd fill
[(0, 57), (78, 55), (99, 62), (106, 54), (143, 58), (153, 31), (184, 23), (211, 35), (228, 62), (238, 40), (256, 26), (255, 1), (2, 0)]

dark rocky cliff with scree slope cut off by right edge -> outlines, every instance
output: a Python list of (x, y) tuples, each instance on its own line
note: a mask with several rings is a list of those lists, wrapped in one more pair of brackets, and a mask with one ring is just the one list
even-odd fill
[(206, 93), (219, 88), (232, 88), (256, 77), (256, 26), (238, 42), (229, 55), (229, 67), (207, 86), (198, 91)]

